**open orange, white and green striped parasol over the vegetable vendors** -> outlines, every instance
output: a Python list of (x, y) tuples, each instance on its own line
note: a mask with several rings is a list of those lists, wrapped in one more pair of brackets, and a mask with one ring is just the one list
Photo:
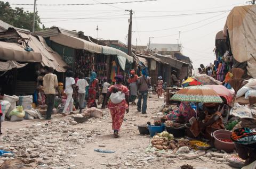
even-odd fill
[(222, 99), (217, 92), (202, 85), (180, 89), (171, 99), (180, 102), (222, 103)]

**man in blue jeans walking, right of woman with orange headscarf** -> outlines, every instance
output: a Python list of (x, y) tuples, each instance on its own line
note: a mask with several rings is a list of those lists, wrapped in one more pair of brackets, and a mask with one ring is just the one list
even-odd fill
[[(142, 70), (142, 76), (138, 79), (138, 103), (137, 110), (142, 112), (142, 114), (146, 114), (147, 112), (147, 98), (148, 98), (148, 90), (151, 86), (150, 77), (147, 76), (147, 71), (145, 69)], [(143, 98), (142, 111), (141, 111), (141, 100)]]

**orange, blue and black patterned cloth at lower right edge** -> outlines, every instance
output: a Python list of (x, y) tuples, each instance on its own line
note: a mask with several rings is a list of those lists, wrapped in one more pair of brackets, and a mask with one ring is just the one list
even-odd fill
[(256, 132), (249, 128), (236, 129), (231, 134), (231, 140), (238, 144), (250, 145), (256, 143)]

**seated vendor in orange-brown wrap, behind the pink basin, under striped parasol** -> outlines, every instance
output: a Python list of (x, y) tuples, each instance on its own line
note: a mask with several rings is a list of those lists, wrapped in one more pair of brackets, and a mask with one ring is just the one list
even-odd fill
[(204, 106), (205, 113), (201, 114), (199, 119), (192, 124), (190, 131), (195, 137), (202, 133), (204, 138), (210, 140), (212, 132), (225, 129), (225, 126), (222, 123), (221, 113), (217, 111), (215, 103), (205, 103)]

